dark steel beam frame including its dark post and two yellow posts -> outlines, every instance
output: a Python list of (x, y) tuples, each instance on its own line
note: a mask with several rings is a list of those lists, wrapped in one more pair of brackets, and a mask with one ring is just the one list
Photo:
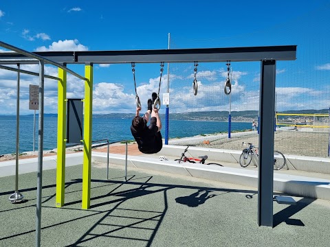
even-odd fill
[[(40, 64), (42, 85), (39, 100), (43, 115), (43, 63), (59, 67), (58, 78), (58, 169), (61, 181), (56, 184), (56, 207), (64, 204), (65, 168), (65, 95), (66, 73), (72, 73), (65, 64), (85, 64), (85, 115), (83, 155), (83, 209), (89, 209), (91, 182), (91, 115), (93, 64), (158, 63), (158, 62), (261, 62), (260, 121), (259, 121), (259, 197), (258, 224), (273, 226), (273, 150), (274, 150), (274, 109), (276, 60), (296, 60), (296, 45), (268, 47), (232, 47), (203, 49), (158, 49), (129, 51), (45, 51), (29, 53), (17, 47), (0, 42), (0, 46), (17, 53), (0, 53), (0, 64)], [(42, 119), (42, 118), (41, 118)], [(39, 162), (42, 160), (43, 124), (39, 121)], [(58, 186), (57, 186), (58, 185)], [(59, 199), (58, 199), (59, 198)], [(37, 209), (38, 210), (38, 209)]]

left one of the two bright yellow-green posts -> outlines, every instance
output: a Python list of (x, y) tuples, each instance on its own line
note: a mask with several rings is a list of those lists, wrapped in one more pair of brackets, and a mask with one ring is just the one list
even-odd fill
[(67, 71), (58, 68), (56, 207), (64, 205)]

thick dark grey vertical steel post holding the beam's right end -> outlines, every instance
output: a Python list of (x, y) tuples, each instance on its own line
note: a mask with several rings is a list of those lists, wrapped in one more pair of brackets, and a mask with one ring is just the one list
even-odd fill
[(273, 226), (275, 60), (261, 61), (258, 225)]

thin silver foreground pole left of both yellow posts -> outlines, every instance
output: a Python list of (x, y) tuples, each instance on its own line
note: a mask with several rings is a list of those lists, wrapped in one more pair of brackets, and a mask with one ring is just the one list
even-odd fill
[(43, 91), (45, 68), (39, 61), (39, 134), (38, 134), (38, 176), (36, 185), (36, 246), (41, 242), (41, 198), (43, 189)]

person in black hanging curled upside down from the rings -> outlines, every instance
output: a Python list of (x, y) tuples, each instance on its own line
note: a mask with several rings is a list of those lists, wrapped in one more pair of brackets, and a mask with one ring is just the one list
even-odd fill
[[(162, 150), (163, 141), (160, 130), (160, 121), (157, 108), (153, 108), (153, 103), (157, 99), (157, 93), (152, 94), (153, 99), (148, 99), (148, 110), (143, 117), (140, 117), (140, 107), (136, 108), (135, 117), (132, 120), (131, 132), (137, 142), (140, 152), (144, 154), (155, 154)], [(151, 115), (150, 124), (147, 126)]]

